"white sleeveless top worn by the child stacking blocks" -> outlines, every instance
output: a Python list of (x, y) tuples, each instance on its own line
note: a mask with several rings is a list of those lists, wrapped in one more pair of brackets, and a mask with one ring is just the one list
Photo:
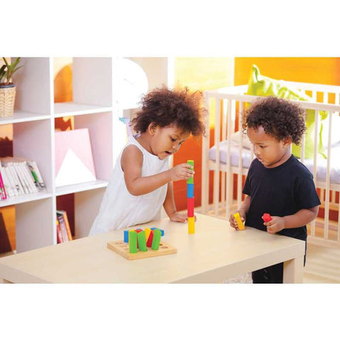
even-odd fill
[[(150, 154), (135, 140), (135, 137), (129, 137), (125, 147), (128, 147), (128, 145), (135, 145), (143, 154), (143, 177), (159, 174), (169, 169), (167, 157), (161, 160), (157, 156)], [(158, 220), (161, 216), (161, 208), (166, 197), (168, 184), (145, 195), (131, 195), (126, 188), (124, 172), (120, 164), (123, 150), (117, 159), (103, 201), (101, 202), (101, 208), (96, 220), (94, 220), (89, 235)]]

